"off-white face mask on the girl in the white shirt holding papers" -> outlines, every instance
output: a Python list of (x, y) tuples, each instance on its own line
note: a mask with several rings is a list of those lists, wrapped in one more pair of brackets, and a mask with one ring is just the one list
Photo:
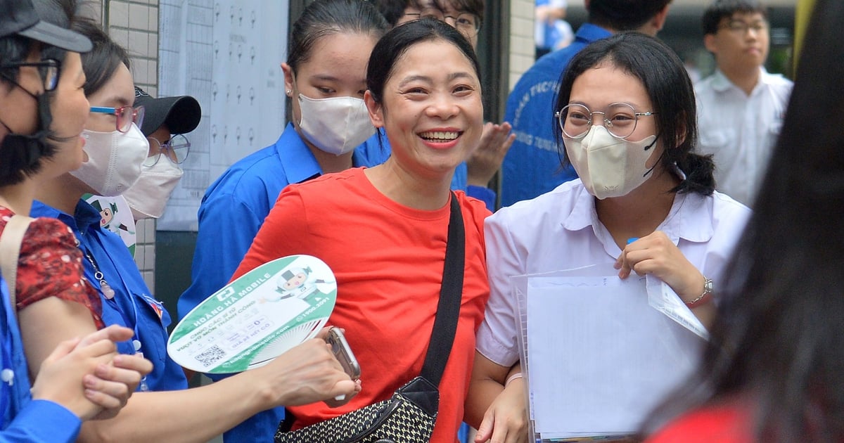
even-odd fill
[(647, 160), (657, 136), (630, 142), (614, 138), (606, 127), (593, 126), (583, 138), (565, 138), (565, 152), (587, 191), (603, 200), (621, 197), (647, 181)]

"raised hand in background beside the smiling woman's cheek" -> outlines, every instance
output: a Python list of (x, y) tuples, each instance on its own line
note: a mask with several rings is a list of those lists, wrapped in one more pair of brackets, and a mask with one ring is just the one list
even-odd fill
[(510, 133), (511, 129), (507, 122), (500, 125), (488, 122), (484, 125), (478, 146), (466, 159), (468, 185), (486, 187), (490, 184), (492, 176), (495, 176), (495, 171), (499, 170), (504, 156), (516, 140), (516, 134)]

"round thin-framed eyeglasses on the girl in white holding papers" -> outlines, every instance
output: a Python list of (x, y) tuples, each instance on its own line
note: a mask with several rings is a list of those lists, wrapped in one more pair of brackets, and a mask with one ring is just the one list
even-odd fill
[(656, 112), (636, 112), (630, 103), (612, 103), (607, 111), (589, 111), (585, 105), (565, 105), (555, 113), (560, 129), (567, 138), (583, 138), (592, 128), (592, 115), (603, 116), (603, 127), (614, 138), (628, 138), (636, 131), (640, 116), (653, 116)]

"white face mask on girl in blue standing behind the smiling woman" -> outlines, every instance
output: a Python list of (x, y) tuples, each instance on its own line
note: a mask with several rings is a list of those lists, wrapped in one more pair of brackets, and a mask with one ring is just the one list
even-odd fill
[(302, 135), (328, 154), (349, 153), (375, 133), (364, 100), (354, 97), (309, 99), (300, 94), (299, 108)]

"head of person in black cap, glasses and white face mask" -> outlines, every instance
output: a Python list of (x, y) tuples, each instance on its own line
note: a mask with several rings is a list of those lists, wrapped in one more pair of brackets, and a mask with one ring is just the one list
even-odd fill
[(190, 95), (156, 99), (137, 86), (134, 106), (145, 109), (141, 132), (149, 141), (149, 157), (143, 162), (140, 178), (123, 197), (135, 221), (158, 219), (184, 173), (181, 164), (191, 143), (183, 134), (197, 128), (202, 108)]

